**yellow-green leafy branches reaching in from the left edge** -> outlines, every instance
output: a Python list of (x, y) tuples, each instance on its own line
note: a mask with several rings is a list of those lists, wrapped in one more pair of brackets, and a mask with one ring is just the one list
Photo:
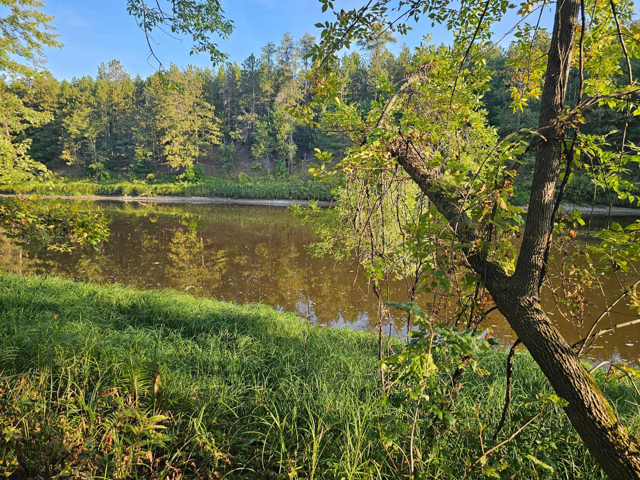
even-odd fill
[[(60, 47), (51, 33), (52, 17), (37, 10), (37, 0), (5, 0), (8, 15), (0, 17), (0, 74), (13, 79), (37, 75), (44, 47)], [(44, 125), (50, 113), (26, 106), (0, 79), (0, 182), (21, 184), (47, 181), (44, 164), (31, 159), (31, 139), (22, 134), (29, 126)], [(73, 244), (99, 243), (108, 235), (100, 212), (81, 212), (71, 205), (42, 199), (1, 197), (0, 232), (17, 244), (43, 244), (51, 249), (69, 250)]]

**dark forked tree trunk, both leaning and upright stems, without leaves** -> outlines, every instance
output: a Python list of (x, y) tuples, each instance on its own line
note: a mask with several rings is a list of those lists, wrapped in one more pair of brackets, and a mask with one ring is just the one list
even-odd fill
[[(539, 141), (537, 148), (529, 214), (515, 273), (506, 275), (498, 264), (481, 253), (468, 252), (468, 260), (483, 277), (498, 309), (556, 393), (568, 402), (564, 410), (589, 452), (612, 479), (639, 480), (640, 445), (617, 419), (602, 390), (540, 306), (540, 276), (550, 240), (560, 170), (563, 130), (559, 118), (564, 107), (579, 10), (580, 0), (559, 0), (556, 5), (540, 112), (540, 133), (545, 140)], [(473, 243), (478, 238), (476, 227), (461, 213), (460, 205), (437, 188), (429, 172), (408, 150), (397, 152), (397, 159), (449, 220), (456, 236), (463, 243)]]

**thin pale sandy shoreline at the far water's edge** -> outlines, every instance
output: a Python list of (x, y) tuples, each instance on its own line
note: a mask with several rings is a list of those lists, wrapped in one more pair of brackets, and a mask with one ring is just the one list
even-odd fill
[[(0, 196), (13, 196), (11, 194), (0, 194)], [(289, 205), (308, 205), (308, 200), (264, 200), (260, 198), (225, 198), (218, 196), (111, 196), (111, 195), (42, 195), (41, 198), (62, 198), (63, 200), (116, 200), (118, 202), (141, 202), (141, 203), (171, 203), (171, 204), (216, 204), (216, 205), (268, 205), (271, 207), (289, 207)], [(318, 200), (319, 207), (330, 207), (332, 202)], [(563, 212), (571, 213), (573, 209), (578, 209), (584, 214), (594, 216), (628, 215), (640, 218), (640, 208), (633, 207), (609, 207), (608, 205), (595, 205), (595, 207), (563, 204)], [(527, 206), (524, 206), (525, 211)]]

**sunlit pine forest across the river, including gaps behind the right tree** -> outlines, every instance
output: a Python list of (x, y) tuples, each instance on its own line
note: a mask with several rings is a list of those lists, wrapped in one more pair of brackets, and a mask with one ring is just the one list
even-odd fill
[[(164, 74), (146, 79), (132, 77), (118, 60), (101, 63), (95, 77), (71, 81), (59, 81), (44, 70), (26, 79), (1, 81), (0, 95), (5, 101), (12, 97), (21, 102), (20, 108), (32, 116), (33, 112), (41, 115), (20, 118), (15, 107), (19, 120), (29, 122), (18, 138), (30, 142), (31, 158), (49, 167), (66, 163), (77, 167), (74, 172), (97, 180), (123, 174), (152, 180), (158, 172), (184, 178), (187, 169), (193, 179), (190, 167), (207, 161), (216, 164), (219, 172), (235, 172), (243, 163), (242, 168), (253, 173), (286, 176), (303, 170), (314, 158), (314, 148), (340, 156), (349, 145), (339, 132), (314, 129), (291, 115), (289, 106), (308, 101), (312, 64), (307, 54), (314, 42), (310, 33), (298, 40), (285, 33), (279, 42), (269, 42), (240, 64), (171, 65)], [(380, 101), (394, 90), (413, 61), (409, 47), (393, 52), (392, 44), (396, 38), (380, 31), (371, 40), (359, 42), (355, 51), (342, 54), (335, 69), (342, 102), (365, 110), (380, 108)], [(528, 81), (524, 72), (513, 67), (518, 54), (515, 47), (508, 47), (494, 48), (485, 56), (494, 72), (492, 88), (484, 98), (487, 118), (501, 137), (535, 128), (540, 111), (536, 99), (522, 110), (512, 103), (509, 88)], [(640, 70), (637, 67), (634, 61), (634, 70)], [(574, 70), (568, 86), (570, 104), (577, 98), (579, 84)], [(606, 134), (616, 128), (608, 120), (612, 116), (606, 104), (598, 112), (586, 129)], [(3, 129), (8, 136), (15, 134), (11, 125)], [(635, 124), (628, 138), (637, 138)], [(616, 148), (615, 136), (612, 148)], [(522, 170), (527, 168), (524, 160)], [(527, 172), (522, 173), (526, 182)], [(576, 189), (579, 186), (572, 187), (573, 196), (585, 197), (582, 200), (593, 195), (593, 191), (577, 193)]]

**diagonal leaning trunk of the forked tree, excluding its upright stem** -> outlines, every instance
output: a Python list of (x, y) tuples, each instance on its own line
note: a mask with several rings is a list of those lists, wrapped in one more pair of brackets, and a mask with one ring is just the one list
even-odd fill
[[(461, 241), (474, 235), (472, 223), (451, 197), (431, 189), (429, 173), (407, 156), (398, 156), (404, 170), (449, 220)], [(553, 205), (552, 205), (553, 207)], [(467, 251), (469, 251), (467, 249)], [(568, 402), (564, 409), (573, 428), (611, 479), (640, 479), (640, 446), (617, 419), (575, 351), (557, 331), (540, 306), (538, 289), (523, 294), (513, 276), (480, 253), (470, 253), (468, 262), (483, 277), (500, 313), (540, 365), (556, 394)]]

